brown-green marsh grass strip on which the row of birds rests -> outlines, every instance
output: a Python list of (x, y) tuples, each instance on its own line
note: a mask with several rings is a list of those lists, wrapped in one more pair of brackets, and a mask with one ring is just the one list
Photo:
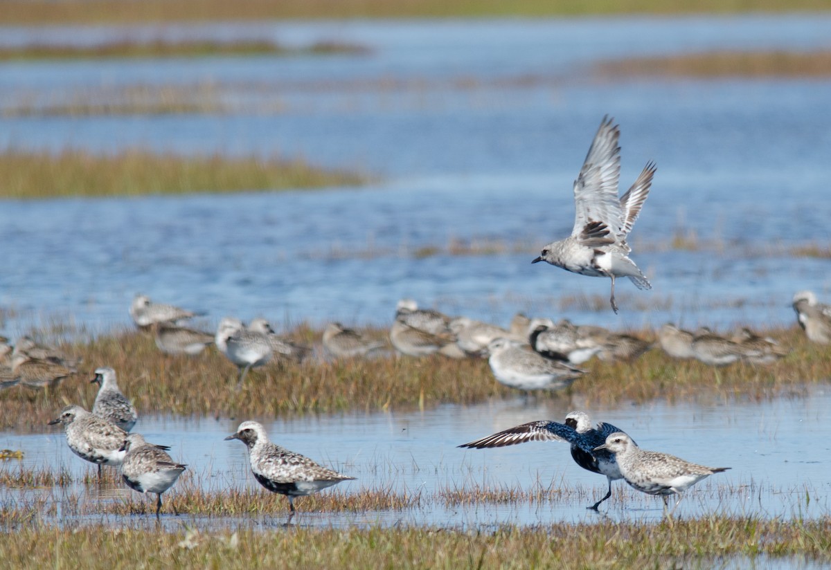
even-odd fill
[[(781, 393), (804, 394), (812, 383), (828, 382), (827, 348), (809, 343), (797, 329), (762, 331), (791, 353), (766, 367), (738, 363), (711, 368), (697, 361), (676, 361), (652, 349), (633, 363), (593, 359), (566, 392), (541, 392), (541, 398), (580, 397), (585, 407), (621, 402), (760, 401)], [(374, 331), (382, 336), (384, 331)], [(652, 332), (635, 332), (654, 340)], [(320, 333), (300, 326), (293, 337), (319, 343)], [(489, 398), (517, 397), (493, 378), (484, 359), (379, 357), (303, 364), (269, 365), (249, 373), (235, 392), (237, 368), (214, 350), (196, 358), (159, 352), (149, 335), (125, 332), (89, 343), (66, 346), (83, 358), (81, 370), (53, 391), (14, 387), (0, 392), (0, 426), (44, 431), (47, 421), (67, 403), (89, 409), (96, 396), (92, 371), (111, 366), (121, 389), (140, 413), (181, 416), (283, 417), (308, 413), (415, 410), (442, 403), (475, 404)]]

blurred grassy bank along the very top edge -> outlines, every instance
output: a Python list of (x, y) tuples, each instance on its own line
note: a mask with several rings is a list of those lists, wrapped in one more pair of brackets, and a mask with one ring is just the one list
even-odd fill
[(0, 22), (56, 23), (199, 22), (286, 18), (356, 17), (545, 17), (594, 14), (690, 14), (736, 12), (827, 11), (824, 0), (7, 0), (0, 2)]

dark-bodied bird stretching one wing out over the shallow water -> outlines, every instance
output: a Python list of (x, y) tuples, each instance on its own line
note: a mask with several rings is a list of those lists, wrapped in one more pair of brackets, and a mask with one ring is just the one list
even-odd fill
[(587, 509), (597, 510), (600, 504), (612, 496), (612, 481), (623, 479), (617, 468), (617, 461), (608, 451), (595, 451), (597, 446), (605, 443), (607, 436), (622, 432), (612, 424), (600, 422), (592, 427), (592, 421), (585, 412), (570, 412), (564, 424), (556, 421), (529, 421), (520, 426), (511, 427), (492, 436), (465, 443), (460, 447), (485, 449), (491, 447), (514, 446), (525, 441), (566, 441), (571, 444), (572, 459), (585, 470), (606, 475), (609, 489), (602, 499)]

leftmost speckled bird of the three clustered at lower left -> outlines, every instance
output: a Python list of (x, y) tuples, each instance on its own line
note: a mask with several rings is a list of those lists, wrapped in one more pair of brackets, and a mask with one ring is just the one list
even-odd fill
[(81, 406), (66, 406), (61, 415), (49, 422), (50, 426), (63, 424), (66, 431), (66, 444), (81, 459), (98, 465), (98, 477), (101, 478), (101, 465), (118, 467), (124, 460), (125, 451), (121, 449), (127, 432), (111, 421), (87, 412)]

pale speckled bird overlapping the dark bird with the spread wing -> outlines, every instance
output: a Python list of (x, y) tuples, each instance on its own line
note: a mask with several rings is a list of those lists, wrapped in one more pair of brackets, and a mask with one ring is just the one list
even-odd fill
[[(678, 496), (675, 506), (681, 502), (681, 494), (700, 480), (730, 467), (706, 467), (696, 465), (659, 451), (644, 451), (622, 431), (612, 433), (595, 451), (606, 450), (617, 459), (617, 467), (623, 478), (635, 489), (647, 494), (661, 495), (664, 510), (669, 495)], [(675, 510), (675, 507), (672, 508)]]

